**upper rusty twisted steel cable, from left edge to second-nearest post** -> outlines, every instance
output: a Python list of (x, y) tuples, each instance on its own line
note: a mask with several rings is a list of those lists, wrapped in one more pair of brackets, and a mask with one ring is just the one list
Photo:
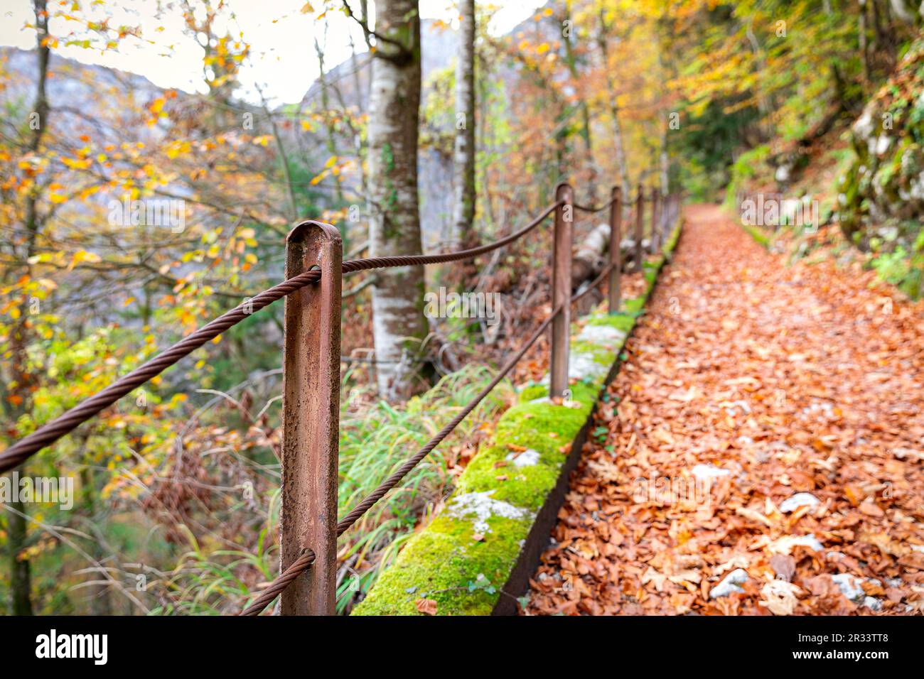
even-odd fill
[[(502, 248), (508, 243), (512, 243), (513, 241), (517, 240), (517, 238), (526, 236), (538, 224), (541, 224), (542, 220), (552, 214), (552, 212), (554, 212), (560, 205), (562, 205), (561, 200), (553, 202), (551, 205), (545, 208), (545, 210), (543, 210), (539, 216), (537, 216), (523, 228), (515, 231), (509, 236), (505, 236), (499, 240), (494, 241), (493, 243), (479, 246), (478, 248), (470, 248), (439, 255), (373, 257), (363, 260), (347, 260), (343, 262), (342, 272), (355, 273), (359, 271), (367, 271), (370, 269), (383, 269), (395, 266), (441, 264), (449, 261), (468, 260), (485, 252), (490, 252), (493, 249)], [(5, 472), (14, 467), (18, 467), (27, 459), (29, 459), (30, 455), (34, 455), (38, 451), (42, 450), (45, 446), (50, 445), (51, 443), (55, 443), (55, 441), (60, 439), (62, 436), (65, 436), (67, 433), (77, 429), (79, 425), (83, 424), (93, 416), (98, 415), (103, 410), (103, 408), (111, 406), (125, 394), (128, 394), (132, 390), (140, 387), (140, 385), (144, 382), (148, 382), (152, 379), (152, 377), (159, 375), (161, 372), (174, 365), (181, 358), (188, 356), (188, 354), (192, 353), (209, 340), (212, 340), (221, 333), (224, 333), (228, 328), (237, 325), (237, 323), (246, 319), (251, 313), (259, 311), (263, 307), (272, 304), (277, 299), (291, 295), (306, 285), (316, 283), (320, 279), (321, 273), (318, 271), (312, 270), (305, 273), (299, 273), (297, 276), (293, 276), (292, 278), (289, 278), (282, 283), (274, 285), (268, 290), (264, 290), (256, 297), (252, 297), (249, 302), (241, 303), (234, 309), (226, 311), (218, 318), (206, 323), (196, 332), (188, 335), (184, 339), (177, 342), (175, 345), (164, 350), (164, 352), (158, 354), (156, 357), (147, 361), (135, 370), (132, 370), (125, 377), (116, 380), (116, 382), (113, 382), (102, 391), (93, 394), (84, 401), (81, 401), (77, 406), (70, 408), (63, 415), (60, 415), (50, 422), (45, 423), (39, 429), (19, 439), (18, 442), (6, 448), (5, 451), (0, 453), (0, 472)]]

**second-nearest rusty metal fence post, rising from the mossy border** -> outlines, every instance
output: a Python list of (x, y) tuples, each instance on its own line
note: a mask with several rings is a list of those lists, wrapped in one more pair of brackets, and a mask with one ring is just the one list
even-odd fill
[(574, 190), (562, 182), (555, 187), (555, 231), (552, 252), (552, 309), (562, 310), (552, 321), (552, 358), (549, 395), (561, 396), (568, 388), (568, 342), (571, 328), (571, 226), (574, 223)]

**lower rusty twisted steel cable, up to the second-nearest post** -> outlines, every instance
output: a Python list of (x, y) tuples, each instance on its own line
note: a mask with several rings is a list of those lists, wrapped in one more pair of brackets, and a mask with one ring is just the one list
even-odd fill
[[(571, 301), (575, 301), (577, 297), (573, 297)], [(542, 333), (549, 327), (554, 318), (561, 312), (562, 307), (559, 306), (553, 310), (551, 314), (542, 321), (538, 328), (529, 336), (529, 339), (520, 346), (517, 351), (504, 363), (504, 366), (501, 370), (498, 370), (497, 374), (494, 376), (491, 382), (488, 384), (472, 398), (468, 404), (459, 413), (455, 418), (449, 420), (443, 429), (436, 432), (430, 441), (425, 443), (417, 453), (412, 457), (407, 459), (401, 467), (398, 467), (394, 474), (392, 474), (388, 479), (383, 480), (383, 482), (372, 491), (366, 498), (357, 504), (346, 516), (344, 516), (340, 521), (337, 522), (337, 537), (346, 533), (350, 527), (353, 526), (359, 518), (368, 512), (372, 506), (379, 502), (388, 491), (391, 491), (401, 479), (404, 479), (409, 472), (414, 467), (417, 467), (421, 460), (423, 460), (427, 455), (430, 455), (433, 449), (439, 445), (446, 436), (448, 436), (459, 423), (468, 417), (468, 414), (474, 410), (481, 401), (484, 400), (485, 396), (491, 394), (494, 387), (496, 387), (501, 380), (503, 380), (507, 373), (510, 370), (513, 370), (514, 366), (517, 365), (517, 362), (520, 358), (523, 358), (523, 355), (529, 351), (529, 347), (536, 344)], [(295, 580), (297, 576), (307, 571), (310, 565), (314, 562), (313, 552), (312, 558), (310, 560), (305, 559), (304, 557), (299, 558), (297, 561), (293, 562), (286, 570), (277, 577), (268, 588), (254, 600), (244, 611), (240, 612), (240, 615), (259, 615), (263, 609), (265, 609), (272, 601), (275, 599), (276, 595), (280, 594), (292, 581)], [(271, 595), (272, 592), (272, 595)]]

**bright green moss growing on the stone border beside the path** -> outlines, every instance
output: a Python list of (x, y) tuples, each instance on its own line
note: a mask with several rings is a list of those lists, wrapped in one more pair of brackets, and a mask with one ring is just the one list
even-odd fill
[[(673, 249), (678, 233), (679, 229), (667, 241), (666, 251)], [(608, 325), (627, 335), (663, 261), (659, 258), (646, 269), (646, 275), (651, 274), (648, 288), (641, 297), (626, 300), (626, 313), (594, 315), (586, 324)], [(572, 327), (572, 333), (578, 330), (577, 325)], [(572, 340), (571, 349), (573, 354), (590, 355), (608, 367), (624, 343), (625, 338), (600, 343)], [(498, 420), (492, 441), (468, 463), (444, 511), (408, 540), (395, 564), (383, 571), (353, 614), (419, 614), (414, 605), (418, 599), (435, 600), (437, 614), (490, 614), (517, 564), (535, 514), (558, 482), (567, 459), (562, 448), (584, 426), (605, 378), (602, 372), (570, 385), (577, 407), (553, 404), (546, 398), (547, 384), (525, 387), (520, 402)], [(514, 452), (525, 455), (523, 448), (535, 451), (529, 454), (537, 456), (535, 464), (517, 467), (513, 459), (507, 459)], [(470, 493), (484, 493), (492, 503), (506, 503), (512, 515), (520, 516), (488, 516), (488, 530), (481, 533), (481, 540), (475, 540), (476, 517), (461, 514), (456, 504), (459, 498), (471, 499)]]

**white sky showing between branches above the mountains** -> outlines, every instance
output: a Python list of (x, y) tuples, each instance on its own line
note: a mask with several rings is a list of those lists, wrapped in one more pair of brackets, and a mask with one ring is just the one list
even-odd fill
[[(249, 63), (240, 75), (244, 87), (240, 94), (245, 99), (253, 101), (256, 98), (256, 84), (274, 104), (298, 102), (318, 76), (314, 36), (323, 41), (325, 25), (325, 67), (334, 67), (348, 58), (350, 33), (357, 50), (365, 51), (362, 31), (354, 21), (338, 11), (328, 12), (326, 17), (317, 20), (311, 14), (299, 13), (304, 4), (305, 0), (225, 0), (225, 5), (237, 15), (237, 26), (232, 25), (233, 33), (243, 30), (244, 40), (250, 44)], [(313, 0), (311, 4), (320, 10), (323, 0)], [(351, 4), (359, 6), (356, 2)], [(370, 0), (370, 7), (373, 4), (374, 0)], [(500, 7), (492, 22), (492, 33), (512, 29), (543, 4), (544, 0), (492, 0), (492, 5)], [(85, 0), (81, 5), (90, 7), (91, 3)], [(138, 73), (159, 87), (205, 91), (201, 79), (201, 47), (191, 37), (183, 35), (177, 9), (166, 9), (157, 18), (157, 6), (157, 0), (110, 0), (104, 9), (98, 10), (101, 18), (112, 17), (110, 26), (140, 25), (144, 41), (129, 37), (120, 43), (117, 52), (105, 53), (66, 46), (62, 41), (55, 53), (84, 63)], [(49, 10), (54, 12), (55, 8), (60, 7), (56, 0), (51, 0)], [(420, 0), (420, 16), (457, 24), (453, 0)], [(32, 22), (30, 0), (0, 0), (0, 45), (32, 49), (35, 32), (24, 28)], [(157, 30), (161, 26), (164, 30)], [(56, 36), (63, 36), (72, 30), (72, 24), (53, 20), (50, 30)]]

